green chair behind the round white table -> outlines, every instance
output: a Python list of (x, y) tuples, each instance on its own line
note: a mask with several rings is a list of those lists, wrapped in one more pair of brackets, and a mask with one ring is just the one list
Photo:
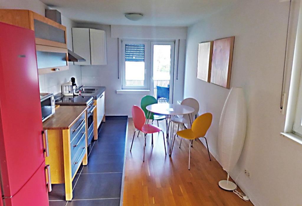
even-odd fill
[[(142, 98), (142, 100), (140, 101), (140, 107), (144, 111), (146, 119), (152, 120), (152, 124), (153, 124), (154, 120), (157, 121), (157, 126), (159, 127), (158, 121), (164, 120), (166, 117), (165, 117), (165, 115), (154, 114), (153, 112), (151, 112), (151, 114), (149, 112), (149, 114), (148, 114), (148, 110), (146, 109), (146, 106), (153, 105), (153, 104), (157, 104), (157, 100), (156, 100), (156, 98), (154, 98), (153, 96), (150, 96), (150, 95), (144, 96)], [(137, 134), (137, 137), (139, 134), (140, 134), (140, 132)]]

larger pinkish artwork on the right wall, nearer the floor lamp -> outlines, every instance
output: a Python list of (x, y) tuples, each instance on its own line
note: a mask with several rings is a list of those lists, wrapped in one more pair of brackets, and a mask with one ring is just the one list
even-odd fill
[(235, 37), (214, 40), (210, 82), (230, 89)]

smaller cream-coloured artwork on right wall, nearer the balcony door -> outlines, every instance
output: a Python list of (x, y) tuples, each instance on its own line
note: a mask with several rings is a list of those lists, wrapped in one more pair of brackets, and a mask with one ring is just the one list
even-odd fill
[(213, 41), (198, 44), (197, 78), (210, 82)]

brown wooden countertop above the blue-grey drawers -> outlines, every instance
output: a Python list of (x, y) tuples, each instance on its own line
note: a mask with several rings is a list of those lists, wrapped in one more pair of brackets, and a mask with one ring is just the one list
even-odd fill
[(43, 122), (43, 129), (69, 129), (87, 108), (87, 106), (59, 106), (56, 108), (56, 112)]

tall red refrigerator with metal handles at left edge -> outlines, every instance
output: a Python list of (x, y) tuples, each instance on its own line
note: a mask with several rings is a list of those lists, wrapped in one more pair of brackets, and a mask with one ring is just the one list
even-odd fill
[(0, 205), (49, 205), (35, 46), (34, 31), (0, 23)]

